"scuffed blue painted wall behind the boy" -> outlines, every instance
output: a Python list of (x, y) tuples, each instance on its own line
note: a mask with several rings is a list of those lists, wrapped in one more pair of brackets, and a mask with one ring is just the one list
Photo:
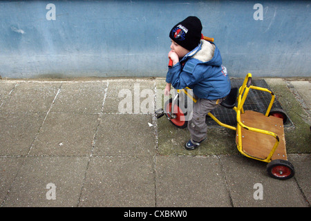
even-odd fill
[(195, 15), (231, 77), (310, 77), (310, 3), (0, 1), (0, 75), (165, 77), (169, 30)]

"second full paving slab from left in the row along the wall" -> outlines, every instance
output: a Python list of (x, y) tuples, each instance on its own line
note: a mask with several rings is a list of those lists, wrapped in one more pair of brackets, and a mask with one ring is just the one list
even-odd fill
[(107, 82), (70, 81), (62, 84), (52, 112), (100, 113)]

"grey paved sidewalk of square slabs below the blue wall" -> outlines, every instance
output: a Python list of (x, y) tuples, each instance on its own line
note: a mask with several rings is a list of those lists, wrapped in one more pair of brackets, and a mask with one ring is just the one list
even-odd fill
[(186, 151), (187, 129), (156, 119), (148, 103), (162, 78), (0, 80), (0, 205), (308, 207), (310, 79), (265, 81), (294, 124), (290, 180), (238, 153), (227, 128)]

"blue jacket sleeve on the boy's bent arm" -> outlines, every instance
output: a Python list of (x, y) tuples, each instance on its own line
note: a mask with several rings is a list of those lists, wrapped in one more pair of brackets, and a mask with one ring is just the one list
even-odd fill
[(191, 63), (188, 62), (189, 61), (187, 61), (184, 68), (182, 68), (179, 62), (172, 68), (169, 68), (169, 71), (167, 72), (167, 83), (171, 83), (173, 88), (191, 88), (191, 86), (198, 83), (202, 78), (202, 75), (196, 71), (196, 66), (192, 66)]

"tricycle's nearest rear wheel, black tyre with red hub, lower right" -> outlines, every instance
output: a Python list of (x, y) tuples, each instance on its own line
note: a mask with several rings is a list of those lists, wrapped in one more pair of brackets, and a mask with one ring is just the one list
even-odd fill
[(294, 166), (288, 160), (272, 160), (267, 164), (267, 173), (278, 180), (288, 180), (294, 176)]

